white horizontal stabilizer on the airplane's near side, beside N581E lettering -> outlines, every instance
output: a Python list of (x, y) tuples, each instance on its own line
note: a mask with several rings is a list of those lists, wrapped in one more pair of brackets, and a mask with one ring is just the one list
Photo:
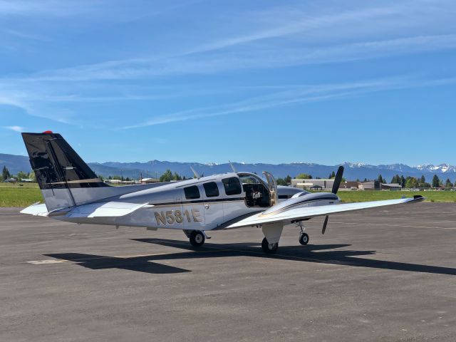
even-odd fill
[(145, 205), (147, 203), (95, 202), (74, 207), (66, 217), (120, 217), (131, 214)]

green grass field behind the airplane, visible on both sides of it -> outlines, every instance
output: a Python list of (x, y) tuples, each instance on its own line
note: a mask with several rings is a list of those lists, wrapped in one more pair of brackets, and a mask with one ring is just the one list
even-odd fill
[[(22, 183), (21, 183), (22, 184)], [(26, 207), (43, 201), (36, 184), (0, 183), (0, 207)], [(397, 199), (403, 196), (422, 195), (427, 202), (456, 202), (456, 192), (452, 191), (339, 191), (338, 196), (345, 203)]]

